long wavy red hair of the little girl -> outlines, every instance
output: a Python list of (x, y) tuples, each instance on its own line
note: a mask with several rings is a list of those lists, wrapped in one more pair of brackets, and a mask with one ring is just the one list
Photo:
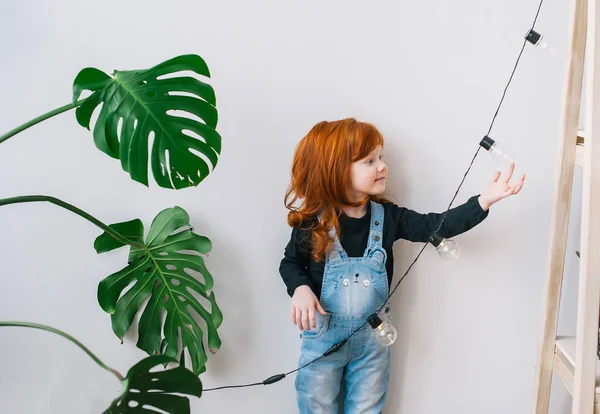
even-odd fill
[[(383, 136), (372, 124), (354, 118), (333, 122), (319, 122), (302, 138), (292, 163), (291, 184), (285, 195), (285, 206), (290, 210), (288, 224), (301, 227), (323, 213), (321, 222), (311, 227), (312, 256), (323, 260), (333, 240), (329, 229), (340, 234), (339, 215), (343, 207), (358, 207), (370, 199), (367, 196), (351, 202), (346, 194), (350, 185), (352, 163), (365, 158), (378, 146), (383, 147)], [(299, 201), (299, 205), (294, 205)]]

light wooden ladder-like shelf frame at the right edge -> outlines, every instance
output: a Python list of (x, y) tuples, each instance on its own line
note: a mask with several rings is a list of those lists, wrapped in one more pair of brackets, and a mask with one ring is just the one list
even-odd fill
[[(573, 395), (572, 413), (600, 413), (597, 387), (598, 312), (600, 310), (600, 8), (596, 0), (572, 0), (570, 47), (563, 90), (562, 139), (559, 141), (554, 208), (548, 246), (543, 335), (538, 350), (535, 413), (547, 414), (552, 372)], [(587, 43), (587, 44), (586, 44)], [(585, 59), (584, 59), (585, 58)], [(585, 61), (586, 125), (577, 131)], [(581, 259), (575, 338), (557, 340), (558, 310), (564, 272), (571, 186), (575, 163), (583, 168)]]

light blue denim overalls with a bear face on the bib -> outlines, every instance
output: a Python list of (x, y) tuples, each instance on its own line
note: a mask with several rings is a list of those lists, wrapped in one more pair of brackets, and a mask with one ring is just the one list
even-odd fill
[[(383, 207), (371, 201), (371, 229), (363, 257), (348, 257), (332, 230), (334, 242), (325, 260), (317, 326), (302, 334), (299, 366), (323, 355), (365, 324), (387, 299), (387, 254), (382, 247)], [(386, 307), (386, 313), (389, 307)], [(387, 316), (386, 316), (387, 317)], [(380, 345), (366, 323), (337, 352), (298, 371), (296, 391), (301, 414), (337, 414), (338, 394), (345, 380), (346, 414), (379, 414), (390, 375), (389, 348)]]

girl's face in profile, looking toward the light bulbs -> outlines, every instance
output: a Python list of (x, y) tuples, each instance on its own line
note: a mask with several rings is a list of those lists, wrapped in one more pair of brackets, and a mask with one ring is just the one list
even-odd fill
[(387, 166), (382, 158), (383, 148), (378, 146), (365, 158), (352, 163), (347, 190), (351, 201), (360, 201), (366, 195), (381, 195), (385, 192)]

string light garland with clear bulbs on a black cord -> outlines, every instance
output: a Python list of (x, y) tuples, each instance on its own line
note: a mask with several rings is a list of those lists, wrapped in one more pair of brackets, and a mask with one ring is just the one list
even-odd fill
[[(448, 204), (448, 207), (446, 208), (446, 211), (442, 214), (442, 218), (440, 220), (440, 223), (438, 224), (438, 226), (435, 229), (435, 231), (429, 237), (429, 239), (428, 239), (429, 242), (428, 243), (424, 243), (423, 247), (421, 248), (421, 250), (419, 251), (419, 253), (415, 257), (415, 259), (412, 261), (412, 263), (410, 264), (410, 266), (408, 266), (408, 269), (406, 270), (406, 272), (404, 272), (404, 274), (402, 275), (402, 277), (400, 278), (400, 280), (398, 280), (398, 282), (396, 282), (396, 284), (394, 285), (394, 288), (391, 290), (391, 292), (388, 295), (385, 303), (383, 305), (381, 305), (381, 307), (376, 312), (374, 312), (371, 316), (369, 316), (369, 318), (367, 319), (367, 321), (365, 321), (360, 327), (358, 327), (357, 329), (355, 329), (354, 331), (352, 331), (352, 333), (350, 335), (348, 335), (345, 339), (343, 339), (342, 341), (334, 344), (323, 355), (321, 355), (321, 356), (313, 359), (312, 361), (304, 364), (301, 367), (298, 367), (298, 368), (296, 368), (296, 369), (294, 369), (292, 371), (286, 372), (286, 373), (281, 373), (281, 374), (273, 375), (273, 376), (271, 376), (271, 377), (269, 377), (269, 378), (267, 378), (267, 379), (265, 379), (264, 381), (261, 381), (261, 382), (254, 382), (254, 383), (240, 384), (240, 385), (225, 385), (225, 386), (216, 387), (216, 388), (205, 388), (203, 390), (203, 392), (217, 391), (217, 390), (231, 389), (231, 388), (246, 388), (246, 387), (254, 387), (254, 386), (258, 386), (258, 385), (270, 385), (270, 384), (274, 384), (274, 383), (276, 383), (278, 381), (281, 381), (282, 379), (286, 378), (288, 375), (291, 375), (291, 374), (293, 374), (293, 373), (295, 373), (297, 371), (300, 371), (301, 369), (309, 366), (310, 364), (312, 364), (312, 363), (314, 363), (316, 361), (319, 361), (322, 358), (326, 358), (327, 356), (329, 356), (329, 355), (331, 355), (331, 354), (339, 351), (348, 342), (348, 340), (350, 338), (352, 338), (352, 336), (354, 336), (354, 334), (356, 334), (358, 331), (360, 331), (367, 324), (370, 324), (371, 327), (374, 329), (374, 332), (375, 332), (375, 335), (377, 337), (377, 340), (381, 344), (389, 346), (389, 345), (391, 345), (396, 340), (396, 337), (397, 337), (396, 329), (391, 325), (391, 323), (389, 322), (388, 318), (385, 318), (385, 317), (382, 318), (379, 315), (381, 314), (382, 309), (384, 307), (386, 307), (386, 305), (388, 304), (388, 302), (389, 302), (390, 298), (392, 297), (392, 295), (398, 289), (398, 286), (400, 286), (400, 283), (402, 283), (402, 281), (408, 275), (408, 273), (410, 272), (410, 270), (412, 269), (412, 267), (419, 260), (419, 258), (421, 257), (421, 254), (423, 253), (423, 251), (425, 251), (425, 248), (427, 247), (428, 244), (432, 244), (433, 246), (435, 246), (436, 249), (438, 250), (438, 252), (440, 253), (440, 256), (442, 256), (443, 258), (452, 259), (452, 258), (458, 257), (458, 253), (460, 252), (460, 247), (458, 246), (458, 244), (455, 241), (453, 241), (453, 240), (447, 240), (447, 239), (441, 237), (440, 235), (438, 235), (438, 232), (439, 232), (440, 228), (442, 227), (442, 224), (444, 223), (444, 220), (446, 219), (446, 214), (448, 214), (448, 211), (452, 207), (452, 204), (454, 203), (454, 200), (456, 199), (456, 196), (458, 195), (458, 193), (459, 193), (459, 191), (460, 191), (463, 183), (465, 182), (465, 179), (467, 178), (467, 175), (471, 171), (471, 167), (473, 166), (473, 163), (475, 162), (475, 159), (477, 158), (477, 155), (479, 155), (479, 151), (482, 148), (485, 149), (485, 150), (487, 150), (490, 153), (492, 159), (494, 159), (494, 161), (496, 161), (496, 163), (498, 163), (501, 167), (505, 167), (505, 166), (507, 166), (507, 164), (510, 164), (510, 163), (514, 162), (515, 157), (514, 157), (514, 152), (512, 151), (512, 149), (509, 146), (507, 146), (506, 144), (499, 143), (499, 142), (495, 141), (494, 139), (492, 139), (490, 137), (490, 133), (492, 132), (492, 129), (494, 127), (494, 122), (496, 121), (496, 117), (498, 116), (498, 112), (500, 111), (500, 108), (502, 107), (502, 103), (504, 102), (504, 98), (506, 97), (506, 92), (507, 92), (507, 90), (508, 90), (508, 88), (509, 88), (509, 86), (510, 86), (510, 84), (512, 82), (512, 79), (513, 79), (513, 77), (515, 75), (517, 67), (519, 66), (519, 62), (521, 60), (521, 56), (523, 55), (523, 51), (525, 50), (525, 46), (527, 45), (527, 43), (529, 42), (529, 43), (531, 43), (534, 46), (539, 46), (539, 47), (544, 48), (544, 49), (552, 50), (552, 48), (550, 48), (550, 46), (548, 45), (548, 43), (545, 40), (543, 40), (543, 36), (534, 30), (535, 24), (536, 24), (537, 19), (539, 17), (540, 10), (542, 8), (543, 3), (544, 3), (544, 0), (540, 0), (537, 12), (535, 14), (535, 18), (533, 19), (533, 24), (531, 25), (531, 29), (529, 29), (527, 31), (526, 35), (525, 35), (525, 38), (523, 40), (523, 45), (521, 46), (521, 50), (519, 52), (519, 55), (517, 57), (515, 65), (513, 67), (512, 73), (510, 75), (510, 78), (508, 79), (506, 87), (504, 88), (504, 91), (502, 93), (502, 97), (500, 98), (500, 103), (498, 104), (498, 107), (496, 108), (496, 112), (494, 113), (494, 116), (492, 117), (492, 121), (490, 123), (488, 132), (484, 135), (483, 139), (479, 142), (479, 145), (477, 147), (477, 151), (473, 155), (473, 158), (471, 159), (469, 167), (465, 171), (460, 184), (458, 185), (456, 191), (454, 192), (454, 196), (450, 200), (450, 203)], [(441, 248), (443, 249), (443, 251), (440, 250), (440, 246), (442, 246)]]

